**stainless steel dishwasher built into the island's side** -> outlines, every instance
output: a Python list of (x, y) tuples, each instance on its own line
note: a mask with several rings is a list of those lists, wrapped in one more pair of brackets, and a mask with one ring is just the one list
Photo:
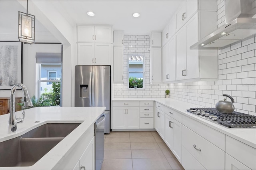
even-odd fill
[(104, 159), (104, 127), (106, 115), (103, 113), (95, 122), (95, 170), (100, 170)]

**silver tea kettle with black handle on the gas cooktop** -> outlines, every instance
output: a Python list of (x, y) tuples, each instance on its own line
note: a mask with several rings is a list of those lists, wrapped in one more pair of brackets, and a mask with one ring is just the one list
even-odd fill
[(226, 94), (224, 94), (223, 96), (230, 98), (231, 102), (226, 101), (226, 99), (224, 99), (224, 101), (219, 101), (215, 105), (217, 111), (219, 111), (220, 113), (232, 113), (235, 110), (235, 107), (233, 105), (233, 103), (235, 101), (234, 101), (233, 97), (231, 97), (230, 95), (226, 95)]

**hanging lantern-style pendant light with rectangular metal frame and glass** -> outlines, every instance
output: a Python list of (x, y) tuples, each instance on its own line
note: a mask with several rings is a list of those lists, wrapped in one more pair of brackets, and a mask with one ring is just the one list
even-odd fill
[(19, 32), (18, 38), (20, 42), (35, 43), (35, 16), (19, 11)]

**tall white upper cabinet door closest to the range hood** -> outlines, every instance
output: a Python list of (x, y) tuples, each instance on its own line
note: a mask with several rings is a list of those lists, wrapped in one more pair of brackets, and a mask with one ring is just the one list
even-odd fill
[(198, 13), (186, 24), (186, 76), (185, 79), (199, 77), (198, 49), (190, 49), (190, 46), (198, 42)]

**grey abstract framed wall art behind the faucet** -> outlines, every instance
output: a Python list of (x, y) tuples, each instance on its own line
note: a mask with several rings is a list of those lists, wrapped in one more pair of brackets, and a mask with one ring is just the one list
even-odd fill
[(22, 83), (22, 42), (0, 42), (0, 90)]

